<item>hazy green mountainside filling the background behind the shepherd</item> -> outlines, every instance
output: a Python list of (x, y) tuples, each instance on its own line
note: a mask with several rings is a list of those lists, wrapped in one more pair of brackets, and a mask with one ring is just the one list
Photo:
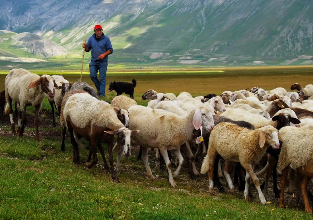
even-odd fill
[[(35, 58), (80, 55), (101, 24), (116, 63), (299, 65), (313, 63), (312, 11), (308, 0), (2, 0), (0, 29), (24, 34), (9, 45), (28, 39), (22, 48)], [(63, 49), (40, 52), (32, 38)]]

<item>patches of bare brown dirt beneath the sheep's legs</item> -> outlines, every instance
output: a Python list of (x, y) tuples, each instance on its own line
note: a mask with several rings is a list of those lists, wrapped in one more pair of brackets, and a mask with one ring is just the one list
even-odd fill
[[(41, 115), (44, 115), (44, 117), (41, 117), (39, 119), (39, 135), (41, 138), (44, 137), (55, 137), (56, 139), (60, 138), (61, 139), (61, 129), (54, 129), (52, 127), (52, 114), (51, 112), (49, 112), (48, 110), (44, 110), (43, 112), (41, 112)], [(14, 117), (14, 122), (17, 124), (17, 117)], [(57, 128), (60, 128), (61, 126), (58, 124), (59, 118), (58, 116), (56, 117), (56, 122), (57, 122)], [(28, 125), (27, 127), (31, 127), (34, 128), (34, 116), (31, 115), (27, 115), (27, 123)], [(8, 137), (11, 136), (11, 131), (10, 131), (10, 119), (8, 117), (8, 115), (4, 115), (4, 123), (0, 124), (0, 137)], [(40, 129), (40, 128), (45, 128)], [(48, 129), (47, 129), (48, 128)], [(51, 128), (51, 129), (49, 129)], [(26, 136), (33, 136), (34, 137), (34, 132), (24, 132), (24, 135)], [(66, 143), (69, 143), (69, 135), (67, 134), (66, 139), (65, 139)], [(139, 146), (135, 145), (134, 143), (132, 143), (132, 155), (137, 156), (139, 153)], [(196, 149), (192, 149), (193, 153), (196, 152)], [(183, 154), (183, 157), (185, 157), (185, 155)], [(264, 156), (264, 159), (266, 158), (266, 155)], [(185, 160), (186, 161), (186, 160)], [(198, 171), (200, 171), (201, 169), (201, 165), (202, 165), (202, 161), (203, 161), (203, 156), (201, 155), (201, 153), (199, 154), (198, 157), (198, 161), (196, 161), (196, 167), (198, 169)], [(162, 171), (158, 170), (159, 168), (159, 161), (156, 160), (155, 158), (155, 152), (153, 151), (149, 151), (149, 162), (150, 162), (150, 166), (152, 169), (152, 172), (154, 173), (154, 176), (156, 177), (156, 179), (158, 178), (167, 178), (167, 169), (165, 169), (163, 172), (163, 175), (160, 175), (160, 173), (162, 174)], [(102, 164), (102, 160), (99, 161), (99, 165)], [(266, 163), (266, 159), (264, 160), (263, 163)], [(172, 165), (175, 164), (175, 156), (172, 155)], [(223, 164), (223, 162), (222, 162)], [(127, 172), (132, 172), (132, 173), (138, 173), (138, 175), (144, 176), (145, 170), (141, 170), (140, 172), (138, 172), (138, 170), (131, 170), (131, 166), (127, 166), (125, 167), (125, 165), (121, 165), (121, 169), (123, 170), (123, 166), (124, 169), (127, 170)], [(257, 168), (258, 170), (260, 170), (261, 168)], [(260, 183), (264, 182), (264, 177), (260, 177)], [(233, 175), (232, 175), (233, 178)], [(157, 180), (156, 180), (157, 181)], [(179, 174), (178, 177), (175, 178), (175, 181), (178, 183), (178, 188), (180, 188), (181, 190), (184, 190), (183, 186), (180, 186), (182, 183), (186, 184), (188, 188), (198, 188), (200, 191), (202, 192), (207, 192), (209, 193), (209, 189), (208, 189), (208, 176), (207, 175), (201, 175), (200, 177), (197, 177), (196, 179), (192, 179), (189, 174), (188, 174), (188, 169), (187, 169), (187, 165), (186, 162), (184, 162), (184, 166)], [(219, 195), (223, 195), (223, 194), (231, 194), (230, 190), (228, 189), (228, 184), (227, 181), (225, 179), (225, 177), (220, 178), (220, 181), (225, 189), (224, 193), (218, 193), (216, 196)], [(278, 186), (280, 186), (280, 181), (281, 181), (281, 177), (278, 177)], [(255, 188), (255, 186), (252, 185), (252, 180), (250, 181), (250, 192), (251, 192), (251, 196), (250, 196), (250, 200), (255, 200), (256, 202), (259, 202), (259, 196), (258, 196), (258, 192)], [(150, 186), (152, 187), (153, 184), (150, 184)], [(310, 184), (309, 184), (310, 185)], [(170, 185), (168, 186), (170, 187)], [(152, 187), (153, 188), (153, 187)], [(286, 187), (287, 188), (287, 187)], [(242, 198), (243, 199), (243, 192), (238, 190), (238, 187), (235, 186), (236, 189), (236, 194), (235, 197), (237, 198)], [(288, 188), (287, 188), (288, 189)], [(309, 189), (312, 191), (312, 187), (309, 186)], [(216, 187), (214, 187), (214, 190), (216, 192), (218, 192), (218, 189)], [(269, 189), (268, 189), (268, 195), (266, 197), (266, 201), (271, 201), (272, 204), (274, 204), (276, 207), (279, 205), (279, 199), (275, 198), (274, 192), (273, 192), (273, 185), (272, 185), (272, 181), (270, 179), (269, 181)], [(296, 192), (294, 194), (288, 194), (287, 190), (285, 191), (285, 206), (287, 206), (288, 208), (298, 208), (300, 210), (304, 210), (304, 206), (302, 205), (301, 202), (297, 202), (296, 201)]]

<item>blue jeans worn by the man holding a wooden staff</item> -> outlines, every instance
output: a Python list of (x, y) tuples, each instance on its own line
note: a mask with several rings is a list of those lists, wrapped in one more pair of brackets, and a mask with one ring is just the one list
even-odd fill
[[(89, 76), (95, 83), (99, 96), (105, 96), (105, 82), (106, 82), (106, 69), (108, 67), (107, 61), (92, 61), (89, 63)], [(99, 78), (97, 77), (99, 71)]]

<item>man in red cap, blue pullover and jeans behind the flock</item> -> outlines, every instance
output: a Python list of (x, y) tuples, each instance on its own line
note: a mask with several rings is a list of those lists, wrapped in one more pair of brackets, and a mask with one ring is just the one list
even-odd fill
[[(83, 48), (85, 48), (86, 52), (91, 50), (89, 76), (95, 83), (99, 97), (104, 97), (108, 55), (113, 53), (113, 48), (109, 37), (102, 33), (102, 27), (100, 24), (95, 25), (94, 32), (95, 33), (88, 39), (87, 44), (83, 43)], [(100, 81), (97, 77), (98, 71)]]

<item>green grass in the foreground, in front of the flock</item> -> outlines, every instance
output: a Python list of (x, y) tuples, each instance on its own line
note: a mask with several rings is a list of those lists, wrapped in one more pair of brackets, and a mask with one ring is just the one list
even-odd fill
[[(198, 91), (192, 93), (196, 94)], [(141, 95), (136, 92), (135, 100), (146, 105)], [(110, 93), (106, 99), (112, 100), (114, 96), (115, 93)], [(27, 109), (27, 114), (33, 115), (33, 108)], [(41, 118), (49, 120), (49, 117), (50, 105), (45, 99)], [(39, 130), (41, 134), (61, 133), (60, 127)], [(242, 192), (213, 196), (208, 192), (207, 177), (192, 180), (186, 169), (175, 178), (177, 188), (172, 189), (167, 171), (159, 170), (153, 152), (149, 152), (149, 163), (155, 181), (146, 178), (143, 162), (136, 160), (137, 153), (133, 153), (128, 159), (122, 158), (121, 173), (117, 174), (121, 183), (116, 183), (105, 173), (101, 157), (98, 156), (98, 165), (90, 170), (83, 164), (74, 165), (68, 137), (63, 153), (61, 136), (41, 135), (41, 142), (36, 142), (33, 131), (33, 127), (27, 127), (26, 135), (17, 138), (10, 135), (9, 124), (0, 125), (0, 219), (312, 218), (302, 208), (301, 211), (278, 208), (277, 200), (264, 206), (254, 196), (251, 202), (245, 202)], [(105, 144), (104, 147), (107, 156)], [(87, 149), (80, 149), (82, 160), (87, 155)], [(227, 185), (224, 187), (227, 189)]]

